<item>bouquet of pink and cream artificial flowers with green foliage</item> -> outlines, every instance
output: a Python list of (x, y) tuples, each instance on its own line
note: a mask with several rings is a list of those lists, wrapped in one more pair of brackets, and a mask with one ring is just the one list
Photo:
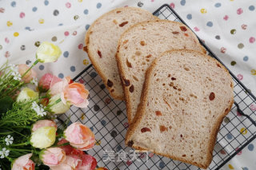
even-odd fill
[(84, 152), (94, 147), (90, 128), (55, 123), (56, 114), (66, 113), (70, 105), (86, 108), (88, 90), (50, 73), (38, 82), (32, 69), (38, 62), (57, 61), (61, 53), (57, 45), (42, 42), (30, 67), (8, 62), (0, 67), (0, 169), (96, 168), (95, 158)]

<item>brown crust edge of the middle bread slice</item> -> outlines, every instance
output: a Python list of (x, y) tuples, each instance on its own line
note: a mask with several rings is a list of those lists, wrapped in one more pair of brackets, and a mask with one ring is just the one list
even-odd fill
[[(150, 23), (150, 22), (172, 22), (172, 23), (177, 23), (178, 25), (180, 26), (185, 26), (184, 24), (182, 24), (181, 22), (173, 22), (173, 21), (169, 21), (169, 20), (161, 20), (161, 19), (158, 19), (157, 21), (148, 21), (148, 22), (140, 22), (140, 23), (137, 23), (137, 24), (134, 24), (134, 26), (130, 26), (128, 30), (126, 30), (124, 33), (122, 33), (121, 37), (119, 38), (119, 41), (118, 41), (118, 50), (117, 50), (117, 53), (116, 53), (116, 60), (118, 61), (118, 71), (119, 71), (119, 75), (120, 75), (120, 78), (121, 78), (121, 82), (122, 82), (122, 75), (124, 75), (124, 70), (122, 69), (122, 58), (120, 57), (120, 53), (119, 53), (119, 49), (120, 49), (120, 46), (122, 45), (122, 38), (130, 31), (132, 30), (134, 27), (137, 27), (137, 26), (141, 26), (143, 24), (146, 24), (146, 23)], [(185, 26), (188, 30), (190, 28), (188, 28), (187, 26)], [(193, 32), (192, 32), (193, 33)], [(195, 34), (192, 34), (193, 38), (194, 38), (194, 41), (200, 46), (200, 48), (202, 49), (202, 53), (206, 53), (206, 49), (204, 49), (202, 47), (202, 45), (200, 45), (199, 41), (198, 41), (198, 38), (195, 36)], [(123, 82), (122, 82), (123, 83)], [(131, 105), (130, 105), (130, 92), (129, 92), (129, 88), (126, 88), (124, 85), (122, 85), (122, 88), (123, 88), (123, 91), (124, 91), (124, 99), (126, 101), (126, 115), (127, 115), (127, 118), (128, 118), (128, 123), (131, 124), (133, 122), (133, 115), (131, 113)], [(141, 96), (142, 97), (142, 96)]]

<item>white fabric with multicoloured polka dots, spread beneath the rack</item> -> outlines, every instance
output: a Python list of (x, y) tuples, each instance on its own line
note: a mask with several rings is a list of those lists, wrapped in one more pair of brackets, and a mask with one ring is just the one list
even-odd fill
[[(169, 4), (192, 30), (213, 50), (225, 65), (248, 89), (256, 95), (256, 2), (253, 0), (75, 0), (75, 1), (26, 1), (12, 0), (0, 3), (0, 64), (8, 59), (11, 63), (31, 65), (40, 43), (53, 42), (62, 49), (57, 62), (38, 64), (38, 76), (54, 73), (58, 77), (75, 77), (90, 64), (82, 50), (84, 36), (90, 24), (100, 15), (120, 6), (137, 6), (154, 12), (162, 4)], [(91, 73), (95, 77), (97, 73)], [(81, 83), (83, 80), (81, 80)], [(102, 89), (105, 86), (100, 85)], [(106, 105), (110, 98), (105, 99)], [(94, 105), (98, 112), (100, 105)], [(256, 105), (250, 109), (256, 110)], [(117, 112), (117, 114), (120, 114)], [(224, 122), (230, 119), (226, 117)], [(102, 119), (99, 126), (108, 120)], [(128, 128), (128, 123), (125, 126)], [(239, 128), (240, 129), (240, 128)], [(94, 129), (92, 129), (94, 130)], [(242, 135), (247, 134), (241, 128)], [(115, 137), (116, 131), (110, 133)], [(226, 140), (234, 139), (230, 133)], [(100, 145), (98, 140), (96, 144)], [(256, 141), (239, 152), (223, 169), (255, 169)], [(117, 149), (121, 149), (120, 147)], [(223, 155), (226, 151), (222, 150)], [(150, 157), (154, 156), (152, 154)], [(134, 164), (127, 161), (125, 164)], [(158, 162), (159, 168), (166, 164)]]

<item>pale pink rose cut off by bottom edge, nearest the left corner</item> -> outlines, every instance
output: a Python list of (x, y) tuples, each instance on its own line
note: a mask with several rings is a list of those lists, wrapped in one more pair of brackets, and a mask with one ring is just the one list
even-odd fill
[(14, 160), (12, 170), (34, 170), (34, 162), (30, 160), (32, 153), (18, 157)]

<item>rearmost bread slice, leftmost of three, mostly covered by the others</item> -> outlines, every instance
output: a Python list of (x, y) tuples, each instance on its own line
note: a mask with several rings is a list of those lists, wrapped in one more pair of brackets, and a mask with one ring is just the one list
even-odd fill
[(122, 7), (103, 14), (86, 33), (86, 52), (98, 74), (102, 77), (110, 95), (115, 99), (124, 98), (118, 74), (115, 53), (118, 39), (130, 26), (158, 19), (149, 11), (135, 7)]

